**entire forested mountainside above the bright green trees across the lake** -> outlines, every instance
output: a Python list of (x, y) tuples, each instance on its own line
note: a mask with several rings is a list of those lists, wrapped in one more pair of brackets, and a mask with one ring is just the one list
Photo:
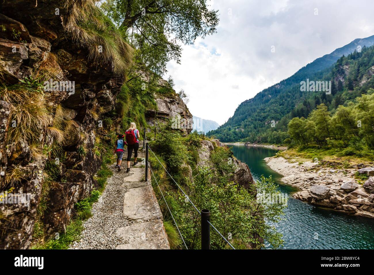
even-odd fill
[[(291, 77), (242, 102), (226, 123), (217, 130), (210, 131), (208, 135), (214, 135), (222, 141), (282, 143), (288, 137), (286, 125), (292, 117), (307, 117), (322, 102), (329, 110), (335, 109), (372, 86), (370, 70), (374, 65), (371, 60), (373, 49), (367, 49), (367, 46), (373, 45), (373, 41), (374, 36), (356, 39), (331, 54), (316, 59)], [(360, 47), (357, 48), (358, 46)], [(360, 52), (355, 51), (356, 49)], [(344, 56), (350, 52), (353, 54)], [(343, 57), (339, 58), (340, 56)], [(334, 64), (335, 61), (337, 62)], [(300, 90), (300, 82), (306, 79), (333, 80), (333, 91), (330, 95), (325, 92), (303, 92)], [(353, 92), (347, 93), (353, 88)], [(276, 127), (272, 127), (274, 124)], [(274, 134), (274, 131), (278, 133)]]

